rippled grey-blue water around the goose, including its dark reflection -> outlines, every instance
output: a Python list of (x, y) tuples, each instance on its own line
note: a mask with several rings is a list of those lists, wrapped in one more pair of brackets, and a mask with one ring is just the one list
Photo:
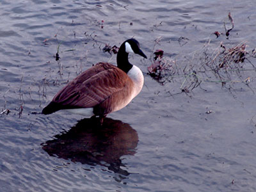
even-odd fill
[[(104, 129), (83, 116), (37, 114), (93, 63), (115, 63), (106, 44), (132, 36), (148, 58), (163, 49), (180, 67), (196, 68), (209, 40), (210, 55), (221, 41), (252, 51), (254, 0), (0, 3), (1, 191), (256, 191), (254, 70), (180, 93), (184, 77), (161, 85), (147, 75), (152, 58), (131, 56), (145, 86)], [(229, 12), (234, 29), (216, 38)]]

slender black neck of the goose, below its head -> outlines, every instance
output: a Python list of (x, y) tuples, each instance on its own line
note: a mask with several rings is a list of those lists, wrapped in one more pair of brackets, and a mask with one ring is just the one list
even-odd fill
[(125, 73), (129, 72), (132, 64), (128, 60), (128, 53), (125, 51), (125, 44), (122, 44), (116, 56), (117, 67), (122, 69)]

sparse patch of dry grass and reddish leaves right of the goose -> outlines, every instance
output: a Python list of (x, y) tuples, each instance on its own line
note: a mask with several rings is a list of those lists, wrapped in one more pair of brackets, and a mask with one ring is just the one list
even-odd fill
[(202, 49), (175, 59), (157, 56), (157, 51), (154, 54), (148, 74), (161, 84), (180, 82), (181, 92), (190, 92), (201, 83), (220, 83), (222, 87), (244, 83), (250, 87), (250, 79), (256, 75), (252, 62), (256, 52), (247, 51), (246, 42), (232, 47), (221, 42), (214, 48), (209, 41)]

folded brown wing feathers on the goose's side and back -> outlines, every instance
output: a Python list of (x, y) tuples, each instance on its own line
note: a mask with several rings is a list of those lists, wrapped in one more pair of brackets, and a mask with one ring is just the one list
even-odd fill
[(70, 81), (52, 102), (63, 108), (92, 108), (120, 92), (130, 81), (125, 72), (109, 63), (98, 63)]

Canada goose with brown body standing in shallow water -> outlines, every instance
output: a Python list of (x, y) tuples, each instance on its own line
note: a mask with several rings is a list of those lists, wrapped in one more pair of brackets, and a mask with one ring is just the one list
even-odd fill
[(126, 40), (116, 56), (117, 67), (97, 63), (63, 87), (42, 113), (47, 115), (66, 109), (80, 115), (99, 116), (102, 121), (108, 113), (127, 106), (144, 83), (140, 68), (129, 63), (130, 52), (147, 58), (137, 40)]

